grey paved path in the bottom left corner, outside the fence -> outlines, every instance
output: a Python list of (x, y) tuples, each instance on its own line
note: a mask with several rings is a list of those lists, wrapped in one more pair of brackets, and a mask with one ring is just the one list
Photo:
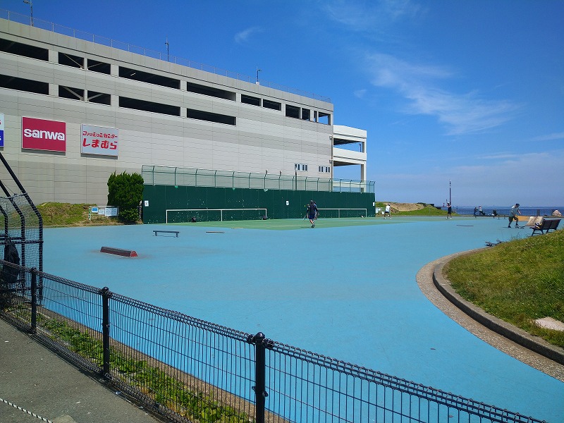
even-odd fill
[(159, 421), (2, 319), (0, 398), (2, 423)]

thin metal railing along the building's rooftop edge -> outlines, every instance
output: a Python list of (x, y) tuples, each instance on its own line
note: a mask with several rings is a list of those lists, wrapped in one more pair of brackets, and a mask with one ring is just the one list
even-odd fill
[[(162, 53), (161, 51), (146, 49), (145, 47), (138, 47), (133, 44), (116, 41), (115, 39), (111, 39), (108, 37), (102, 37), (100, 35), (90, 34), (89, 32), (75, 30), (70, 27), (48, 22), (47, 20), (32, 18), (31, 16), (23, 15), (21, 13), (15, 13), (11, 11), (6, 11), (4, 9), (0, 9), (0, 18), (11, 20), (16, 23), (22, 23), (24, 25), (30, 25), (32, 27), (37, 27), (42, 30), (56, 32), (57, 34), (67, 35), (68, 37), (94, 42), (96, 44), (101, 44), (106, 47), (112, 47), (114, 49), (120, 49), (123, 51), (129, 51), (130, 53), (152, 57), (153, 59), (168, 61), (170, 63), (176, 63), (177, 65), (186, 66), (188, 68), (197, 69), (199, 71), (205, 71), (209, 73), (214, 73), (216, 75), (226, 76), (227, 78), (233, 78), (243, 82), (249, 82), (250, 84), (255, 84), (257, 82), (255, 77), (249, 75), (243, 75), (237, 72), (226, 71), (225, 69), (216, 68), (216, 66), (210, 66), (196, 61), (182, 59), (181, 57), (171, 56), (170, 54)], [(260, 80), (260, 85), (262, 85), (263, 87), (272, 88), (274, 90), (280, 90), (283, 92), (289, 92), (291, 94), (301, 95), (302, 97), (308, 97), (310, 99), (321, 100), (321, 102), (331, 103), (331, 99), (329, 97), (324, 97), (319, 94), (315, 94), (313, 92), (298, 90), (298, 88), (287, 87), (286, 85), (280, 85), (277, 84), (276, 82)]]

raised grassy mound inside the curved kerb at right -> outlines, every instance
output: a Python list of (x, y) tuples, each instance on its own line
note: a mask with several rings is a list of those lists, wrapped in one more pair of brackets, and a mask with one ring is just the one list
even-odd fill
[(445, 276), (489, 314), (564, 348), (564, 332), (535, 319), (564, 321), (564, 231), (512, 240), (450, 261)]

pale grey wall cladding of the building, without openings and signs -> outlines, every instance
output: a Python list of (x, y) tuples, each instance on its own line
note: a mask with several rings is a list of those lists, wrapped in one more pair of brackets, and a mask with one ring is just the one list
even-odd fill
[[(332, 104), (273, 90), (254, 83), (233, 80), (186, 68), (174, 63), (139, 56), (127, 51), (56, 35), (27, 25), (10, 25), (0, 35), (16, 42), (49, 49), (51, 56), (59, 51), (94, 61), (139, 69), (157, 75), (186, 80), (237, 93), (238, 102), (197, 94), (146, 82), (119, 78), (59, 63), (49, 63), (13, 54), (0, 53), (0, 73), (20, 78), (50, 82), (86, 91), (111, 94), (112, 104), (94, 104), (56, 96), (32, 94), (0, 88), (1, 112), (6, 114), (6, 158), (21, 173), (20, 179), (41, 201), (97, 202), (107, 197), (107, 178), (114, 171), (140, 173), (144, 164), (206, 168), (243, 172), (293, 175), (294, 163), (308, 164), (316, 175), (319, 163), (331, 158), (330, 125), (288, 118), (284, 104), (305, 107), (312, 113), (333, 114)], [(20, 32), (27, 34), (20, 37)], [(11, 37), (11, 38), (10, 38)], [(30, 39), (31, 37), (31, 39)], [(85, 62), (86, 65), (86, 62)], [(13, 75), (16, 76), (16, 75)], [(56, 85), (55, 85), (56, 87)], [(58, 87), (56, 90), (58, 94)], [(281, 102), (281, 110), (240, 103), (240, 94)], [(235, 116), (236, 125), (213, 123), (180, 116), (168, 116), (119, 107), (118, 96), (160, 104)], [(21, 116), (65, 121), (66, 153), (21, 150)], [(97, 157), (80, 153), (80, 124), (107, 126), (119, 130), (118, 158)], [(9, 145), (8, 145), (9, 144)]]

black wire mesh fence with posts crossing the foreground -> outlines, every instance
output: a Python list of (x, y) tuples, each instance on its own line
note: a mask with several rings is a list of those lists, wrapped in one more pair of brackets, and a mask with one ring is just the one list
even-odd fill
[(2, 318), (174, 422), (539, 422), (263, 333), (0, 265), (23, 286), (3, 297)]

